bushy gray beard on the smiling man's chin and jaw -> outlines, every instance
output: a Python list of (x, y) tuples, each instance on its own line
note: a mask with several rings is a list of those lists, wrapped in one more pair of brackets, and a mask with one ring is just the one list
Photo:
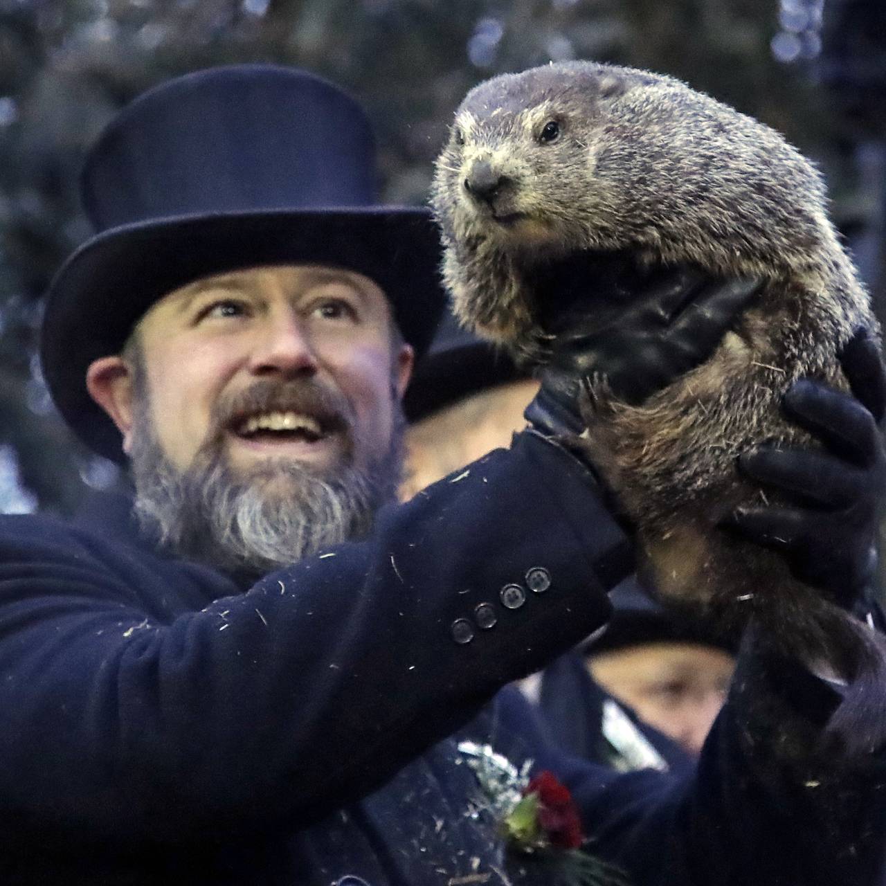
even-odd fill
[(348, 456), (323, 470), (276, 459), (245, 473), (231, 470), (214, 444), (176, 469), (147, 409), (139, 412), (144, 424), (131, 452), (139, 525), (159, 546), (221, 571), (259, 576), (359, 540), (400, 483), (402, 418), (388, 453), (367, 470)]

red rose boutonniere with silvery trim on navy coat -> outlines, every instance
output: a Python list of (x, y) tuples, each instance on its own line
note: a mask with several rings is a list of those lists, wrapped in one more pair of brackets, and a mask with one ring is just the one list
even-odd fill
[(509, 850), (544, 865), (551, 886), (628, 886), (617, 867), (583, 848), (579, 810), (554, 773), (531, 779), (532, 761), (517, 769), (488, 744), (461, 742), (458, 750), (477, 774)]

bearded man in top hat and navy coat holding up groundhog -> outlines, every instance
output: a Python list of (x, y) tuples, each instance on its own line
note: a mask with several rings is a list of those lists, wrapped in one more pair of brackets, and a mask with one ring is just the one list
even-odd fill
[[(0, 524), (4, 882), (550, 882), (564, 856), (506, 847), (506, 792), (484, 799), (487, 766), (517, 783), (528, 757), (635, 882), (872, 881), (882, 759), (820, 771), (838, 696), (797, 664), (750, 645), (695, 782), (615, 780), (537, 742), (513, 696), (488, 704), (602, 624), (629, 542), (548, 430), (374, 514), (439, 299), (426, 215), (374, 206), (371, 170), (348, 97), (264, 66), (160, 87), (92, 152), (103, 230), (53, 284), (43, 365), (84, 439), (119, 457), (122, 439), (155, 548)], [(619, 326), (640, 368), (590, 342), (561, 362), (657, 390), (756, 289), (653, 279)], [(860, 348), (851, 376), (882, 380)], [(538, 427), (575, 408), (567, 381), (543, 385)], [(875, 439), (849, 397), (797, 402)], [(876, 453), (857, 470), (879, 488)], [(794, 758), (756, 740), (761, 716)]]

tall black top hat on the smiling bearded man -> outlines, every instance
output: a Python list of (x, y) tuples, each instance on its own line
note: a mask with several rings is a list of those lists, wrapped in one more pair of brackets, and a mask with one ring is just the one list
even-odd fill
[(237, 65), (188, 74), (125, 108), (89, 153), (82, 201), (95, 237), (53, 280), (43, 375), (66, 421), (122, 459), (86, 390), (153, 302), (201, 276), (310, 262), (357, 271), (390, 299), (422, 354), (445, 296), (427, 209), (375, 203), (375, 145), (354, 99), (313, 74)]

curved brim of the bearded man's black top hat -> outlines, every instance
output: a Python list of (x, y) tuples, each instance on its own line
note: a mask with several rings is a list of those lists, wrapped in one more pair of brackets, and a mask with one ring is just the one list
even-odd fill
[(89, 364), (119, 354), (138, 320), (202, 276), (274, 264), (322, 264), (369, 277), (421, 356), (446, 304), (439, 232), (419, 207), (329, 207), (152, 219), (92, 237), (52, 281), (43, 320), (43, 377), (67, 424), (122, 462), (120, 432), (86, 388)]

